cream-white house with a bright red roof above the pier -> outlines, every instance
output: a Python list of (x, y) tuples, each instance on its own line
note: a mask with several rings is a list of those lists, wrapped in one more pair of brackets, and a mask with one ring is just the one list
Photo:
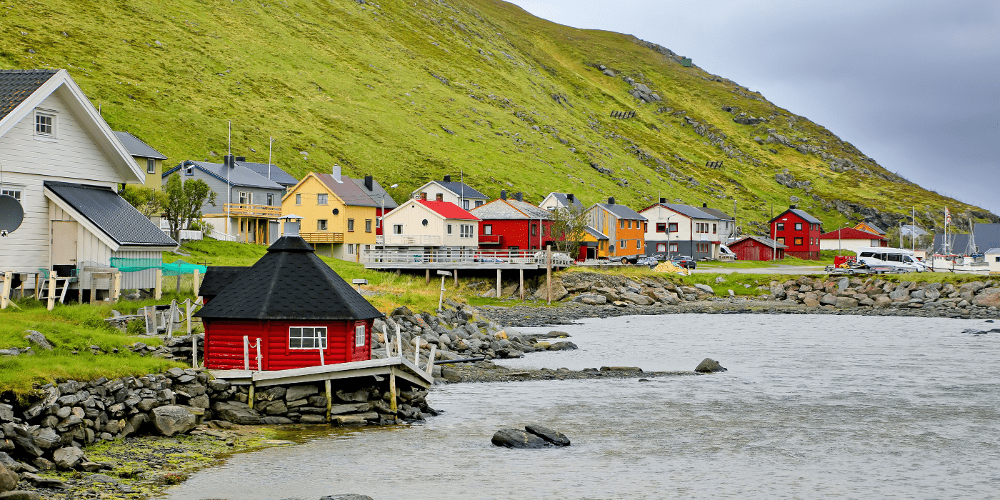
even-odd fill
[(383, 250), (479, 248), (479, 217), (447, 201), (407, 200), (382, 221)]

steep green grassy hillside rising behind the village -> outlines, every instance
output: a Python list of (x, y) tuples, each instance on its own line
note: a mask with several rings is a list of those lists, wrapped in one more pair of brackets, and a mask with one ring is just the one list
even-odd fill
[[(894, 225), (911, 205), (928, 226), (945, 205), (956, 221), (1000, 220), (665, 48), (500, 1), (3, 0), (0, 12), (0, 66), (68, 69), (112, 127), (172, 163), (221, 161), (232, 120), (237, 155), (266, 162), (274, 136), (293, 175), (338, 163), (399, 183), (399, 199), (464, 172), (536, 203), (549, 191), (637, 209), (736, 201), (749, 232), (796, 200), (827, 229)], [(660, 100), (630, 95), (638, 84)]]

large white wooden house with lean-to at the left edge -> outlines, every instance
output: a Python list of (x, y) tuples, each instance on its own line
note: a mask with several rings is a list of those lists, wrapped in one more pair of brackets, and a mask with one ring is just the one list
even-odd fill
[[(2, 194), (24, 208), (0, 239), (0, 271), (32, 288), (25, 275), (40, 268), (67, 276), (113, 258), (161, 262), (177, 243), (117, 194), (145, 177), (66, 70), (0, 71)], [(151, 288), (155, 271), (123, 273), (121, 285)]]

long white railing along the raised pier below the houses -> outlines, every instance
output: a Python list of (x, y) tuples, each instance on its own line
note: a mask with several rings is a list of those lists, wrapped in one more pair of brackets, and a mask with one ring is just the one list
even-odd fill
[[(539, 264), (545, 265), (544, 250), (362, 250), (362, 264)], [(552, 252), (553, 267), (570, 267), (574, 259)]]

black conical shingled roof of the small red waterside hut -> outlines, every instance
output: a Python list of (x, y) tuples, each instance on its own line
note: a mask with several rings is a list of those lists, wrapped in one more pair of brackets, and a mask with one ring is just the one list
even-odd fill
[(299, 236), (282, 236), (195, 316), (213, 319), (332, 320), (383, 316)]

